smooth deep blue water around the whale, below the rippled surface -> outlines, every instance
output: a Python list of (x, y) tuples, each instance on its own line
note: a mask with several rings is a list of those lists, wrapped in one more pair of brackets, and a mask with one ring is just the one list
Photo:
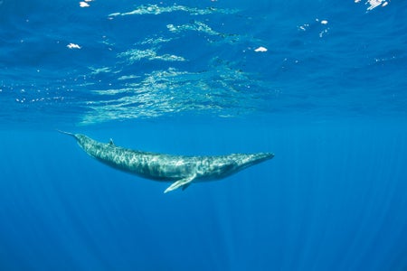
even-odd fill
[(84, 132), (157, 152), (276, 156), (164, 194), (166, 183), (99, 164), (68, 136), (2, 131), (4, 270), (407, 266), (407, 128), (397, 121), (184, 120)]

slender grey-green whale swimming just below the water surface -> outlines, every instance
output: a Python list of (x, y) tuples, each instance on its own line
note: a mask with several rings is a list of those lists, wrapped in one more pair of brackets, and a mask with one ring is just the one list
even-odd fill
[(86, 154), (103, 164), (146, 179), (172, 182), (165, 190), (185, 190), (193, 182), (216, 181), (274, 157), (271, 153), (188, 156), (137, 151), (117, 146), (110, 139), (102, 143), (87, 135), (72, 134)]

